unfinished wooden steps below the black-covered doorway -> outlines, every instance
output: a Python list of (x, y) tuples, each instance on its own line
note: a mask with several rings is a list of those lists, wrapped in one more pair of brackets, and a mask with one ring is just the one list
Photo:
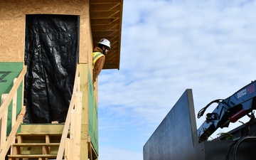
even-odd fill
[(63, 124), (23, 124), (11, 146), (9, 160), (56, 159)]

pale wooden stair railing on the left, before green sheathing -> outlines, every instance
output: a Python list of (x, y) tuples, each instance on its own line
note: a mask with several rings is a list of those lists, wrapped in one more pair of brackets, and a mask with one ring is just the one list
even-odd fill
[[(17, 90), (21, 82), (24, 80), (24, 76), (26, 75), (26, 65), (21, 70), (21, 73), (18, 75), (18, 78), (14, 80), (14, 86), (11, 87), (9, 94), (2, 95), (2, 104), (0, 107), (0, 159), (5, 159), (7, 152), (12, 144), (14, 144), (15, 136), (18, 131), (18, 127), (21, 125), (23, 120), (23, 116), (26, 112), (25, 107), (22, 107), (21, 112), (18, 114), (16, 118), (16, 104), (17, 104)], [(8, 107), (13, 101), (13, 110), (12, 110), (12, 122), (11, 122), (11, 132), (9, 137), (6, 137), (6, 129), (7, 129), (7, 113)], [(7, 138), (7, 139), (6, 139)]]

